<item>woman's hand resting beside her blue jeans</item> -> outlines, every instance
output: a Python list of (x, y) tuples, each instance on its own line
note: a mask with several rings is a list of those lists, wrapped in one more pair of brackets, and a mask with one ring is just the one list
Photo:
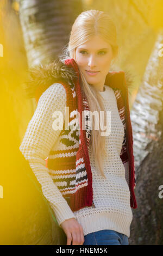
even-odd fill
[(60, 224), (67, 236), (67, 245), (83, 245), (84, 234), (82, 225), (78, 223), (76, 218), (69, 218)]

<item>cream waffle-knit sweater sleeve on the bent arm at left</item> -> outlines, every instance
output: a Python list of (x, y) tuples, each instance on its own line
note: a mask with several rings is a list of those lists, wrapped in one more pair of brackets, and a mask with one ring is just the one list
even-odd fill
[(40, 182), (43, 195), (51, 204), (59, 225), (68, 218), (76, 217), (48, 174), (45, 159), (61, 132), (53, 129), (52, 124), (55, 119), (52, 114), (54, 111), (61, 111), (64, 118), (65, 107), (64, 86), (60, 83), (52, 84), (41, 95), (19, 148)]

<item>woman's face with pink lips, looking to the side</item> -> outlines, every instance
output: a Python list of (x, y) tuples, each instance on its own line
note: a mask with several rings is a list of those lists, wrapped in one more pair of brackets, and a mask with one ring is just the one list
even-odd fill
[[(103, 91), (106, 75), (113, 58), (110, 44), (98, 35), (76, 48), (76, 62), (83, 72), (87, 83)], [(98, 71), (95, 73), (88, 71)]]

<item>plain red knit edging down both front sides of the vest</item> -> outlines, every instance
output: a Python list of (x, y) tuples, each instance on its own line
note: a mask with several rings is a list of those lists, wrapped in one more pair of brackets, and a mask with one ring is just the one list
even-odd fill
[[(80, 113), (80, 117), (82, 117), (82, 111), (84, 111), (83, 106), (83, 99), (82, 99), (82, 91), (80, 87), (81, 77), (80, 71), (76, 61), (72, 59), (66, 59), (65, 64), (68, 66), (72, 66), (73, 69), (76, 71), (78, 75), (78, 80), (76, 81), (76, 93), (77, 93), (77, 100), (78, 100), (78, 111)], [(134, 188), (136, 186), (135, 180), (135, 167), (134, 167), (134, 155), (133, 155), (133, 132), (131, 127), (131, 120), (130, 120), (130, 110), (129, 110), (129, 100), (128, 100), (128, 88), (126, 84), (126, 78), (124, 71), (119, 72), (110, 72), (112, 76), (106, 76), (105, 85), (111, 87), (112, 89), (119, 89), (121, 92), (121, 97), (117, 101), (118, 110), (122, 109), (124, 106), (125, 108), (125, 119), (126, 119), (126, 149), (123, 150), (123, 154), (121, 154), (122, 162), (129, 162), (129, 176), (130, 176), (130, 206), (133, 209), (137, 208)], [(121, 117), (122, 119), (122, 117)], [(80, 127), (82, 127), (82, 118), (80, 118)], [(91, 206), (92, 205), (92, 174), (91, 174), (91, 166), (89, 160), (89, 153), (86, 144), (86, 134), (85, 130), (80, 130), (80, 145), (79, 145), (79, 154), (77, 154), (78, 159), (84, 156), (84, 160), (86, 162), (86, 172), (87, 178), (89, 180), (89, 185), (86, 187), (85, 196), (82, 197), (84, 200), (83, 202), (79, 202), (82, 208), (84, 206)], [(121, 151), (122, 152), (122, 151)], [(77, 160), (78, 160), (77, 159)], [(80, 191), (80, 190), (79, 190)], [(71, 200), (70, 200), (71, 202)], [(74, 201), (73, 201), (74, 202)], [(74, 202), (75, 203), (75, 202)]]

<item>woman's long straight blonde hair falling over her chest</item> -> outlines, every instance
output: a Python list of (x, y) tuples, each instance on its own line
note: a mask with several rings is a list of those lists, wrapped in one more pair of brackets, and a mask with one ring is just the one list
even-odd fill
[[(74, 21), (72, 30), (70, 33), (70, 40), (68, 42), (68, 47), (65, 47), (64, 54), (60, 55), (60, 60), (64, 62), (67, 58), (73, 58), (76, 60), (76, 47), (84, 44), (87, 40), (90, 40), (92, 36), (99, 35), (106, 42), (111, 45), (112, 53), (114, 58), (118, 53), (117, 45), (117, 34), (116, 27), (110, 16), (104, 11), (99, 10), (87, 10), (81, 13), (77, 19)], [(109, 71), (109, 70), (108, 70)], [(82, 91), (89, 103), (89, 108), (91, 113), (94, 111), (105, 111), (102, 96), (98, 93), (97, 90), (89, 83), (86, 82), (86, 79), (83, 75), (83, 72), (80, 70), (82, 78)], [(89, 97), (87, 96), (89, 95)], [(106, 114), (105, 114), (106, 115)], [(105, 177), (103, 170), (103, 161), (102, 155), (105, 155), (105, 141), (106, 139), (101, 136), (101, 129), (95, 130), (95, 120), (92, 118), (92, 131), (91, 131), (91, 154), (95, 156), (96, 167), (99, 168), (101, 175)]]

